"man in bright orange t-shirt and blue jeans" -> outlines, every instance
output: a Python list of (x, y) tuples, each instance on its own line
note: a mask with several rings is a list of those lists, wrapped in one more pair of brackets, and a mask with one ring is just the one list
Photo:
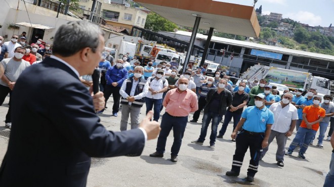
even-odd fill
[(298, 157), (305, 159), (304, 153), (319, 129), (319, 122), (322, 121), (326, 114), (325, 109), (319, 106), (320, 102), (321, 97), (319, 95), (315, 95), (313, 97), (313, 105), (307, 106), (303, 109), (303, 121), (285, 155), (292, 155), (295, 148), (304, 139)]

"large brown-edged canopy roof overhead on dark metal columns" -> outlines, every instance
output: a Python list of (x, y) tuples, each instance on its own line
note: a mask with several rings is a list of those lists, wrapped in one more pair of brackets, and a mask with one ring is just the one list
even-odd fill
[(254, 7), (212, 0), (135, 0), (177, 25), (193, 27), (201, 17), (200, 29), (258, 37), (260, 25)]

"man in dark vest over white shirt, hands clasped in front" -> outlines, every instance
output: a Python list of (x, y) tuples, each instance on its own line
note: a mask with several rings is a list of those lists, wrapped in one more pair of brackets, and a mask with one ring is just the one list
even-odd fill
[(122, 96), (120, 104), (122, 106), (122, 117), (120, 120), (120, 130), (127, 130), (129, 114), (131, 116), (131, 129), (138, 128), (140, 108), (145, 103), (148, 92), (148, 83), (142, 77), (144, 67), (136, 66), (134, 76), (125, 80), (119, 90)]

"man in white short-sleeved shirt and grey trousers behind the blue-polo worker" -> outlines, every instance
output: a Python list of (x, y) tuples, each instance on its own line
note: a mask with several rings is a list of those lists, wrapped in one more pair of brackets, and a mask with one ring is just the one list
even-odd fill
[(274, 103), (270, 106), (269, 110), (274, 113), (274, 124), (271, 126), (268, 147), (263, 148), (263, 152), (261, 154), (262, 159), (267, 153), (270, 143), (276, 137), (278, 146), (276, 151), (276, 161), (277, 165), (281, 167), (284, 166), (283, 157), (285, 154), (286, 139), (293, 133), (298, 120), (297, 108), (293, 104), (290, 104), (293, 96), (294, 95), (289, 92), (285, 93), (280, 102)]

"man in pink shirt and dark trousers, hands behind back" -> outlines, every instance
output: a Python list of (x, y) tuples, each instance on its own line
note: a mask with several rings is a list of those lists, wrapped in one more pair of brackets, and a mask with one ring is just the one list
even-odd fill
[(167, 92), (162, 105), (165, 113), (162, 115), (161, 131), (156, 145), (156, 152), (150, 157), (163, 157), (167, 136), (173, 128), (174, 142), (171, 149), (171, 161), (178, 161), (178, 153), (181, 148), (182, 138), (186, 130), (188, 115), (198, 109), (197, 96), (194, 91), (188, 89), (189, 80), (180, 78), (179, 87)]

